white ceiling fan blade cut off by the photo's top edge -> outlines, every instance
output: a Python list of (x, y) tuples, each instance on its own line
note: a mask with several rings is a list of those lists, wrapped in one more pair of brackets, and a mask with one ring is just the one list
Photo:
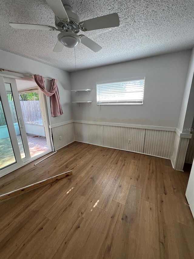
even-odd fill
[(68, 15), (61, 0), (46, 0), (46, 2), (59, 19), (69, 22)]

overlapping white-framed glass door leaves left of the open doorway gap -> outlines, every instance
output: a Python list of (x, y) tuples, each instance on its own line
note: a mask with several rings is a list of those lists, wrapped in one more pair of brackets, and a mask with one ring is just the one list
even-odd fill
[(0, 77), (0, 176), (31, 159), (16, 81)]

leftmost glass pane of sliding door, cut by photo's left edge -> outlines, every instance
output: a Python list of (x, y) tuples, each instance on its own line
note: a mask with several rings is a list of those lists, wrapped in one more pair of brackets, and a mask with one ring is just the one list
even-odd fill
[(16, 163), (7, 121), (0, 98), (0, 169)]

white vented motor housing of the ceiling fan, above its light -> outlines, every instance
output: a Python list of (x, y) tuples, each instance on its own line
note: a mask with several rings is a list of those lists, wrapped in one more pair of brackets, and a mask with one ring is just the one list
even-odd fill
[(73, 12), (73, 9), (71, 6), (64, 5), (64, 8), (69, 17), (69, 22), (65, 23), (63, 20), (60, 20), (57, 16), (55, 16), (55, 26), (57, 27), (57, 29), (59, 29), (62, 32), (65, 30), (72, 30), (76, 34), (79, 33), (80, 19), (78, 15)]

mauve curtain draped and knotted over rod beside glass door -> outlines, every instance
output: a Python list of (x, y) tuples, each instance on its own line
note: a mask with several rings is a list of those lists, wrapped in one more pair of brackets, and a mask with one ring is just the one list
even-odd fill
[(48, 92), (45, 88), (44, 77), (40, 75), (33, 75), (32, 77), (34, 78), (35, 82), (37, 83), (38, 87), (42, 90), (42, 92), (46, 96), (51, 96), (51, 116), (56, 117), (63, 114), (59, 98), (57, 80), (54, 78), (51, 80), (51, 90), (50, 92)]

